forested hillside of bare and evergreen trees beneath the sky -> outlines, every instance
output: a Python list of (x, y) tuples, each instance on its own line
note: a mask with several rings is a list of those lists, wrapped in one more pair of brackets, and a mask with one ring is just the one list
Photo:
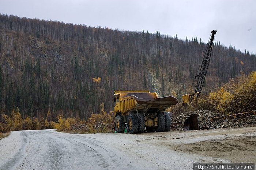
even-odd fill
[[(1, 114), (18, 107), (23, 119), (46, 118), (48, 110), (51, 120), (88, 119), (102, 102), (113, 110), (114, 90), (181, 99), (191, 92), (207, 41), (0, 15)], [(216, 41), (202, 93), (253, 70), (255, 54)]]

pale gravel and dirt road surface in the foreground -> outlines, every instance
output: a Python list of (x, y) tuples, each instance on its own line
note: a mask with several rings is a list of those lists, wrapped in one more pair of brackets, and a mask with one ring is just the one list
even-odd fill
[(12, 131), (0, 169), (193, 169), (193, 163), (256, 163), (256, 127), (143, 134)]

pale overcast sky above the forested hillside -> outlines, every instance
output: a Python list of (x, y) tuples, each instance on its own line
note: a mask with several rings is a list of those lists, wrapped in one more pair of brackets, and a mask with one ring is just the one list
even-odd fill
[(189, 40), (215, 41), (256, 54), (256, 0), (0, 0), (0, 13)]

